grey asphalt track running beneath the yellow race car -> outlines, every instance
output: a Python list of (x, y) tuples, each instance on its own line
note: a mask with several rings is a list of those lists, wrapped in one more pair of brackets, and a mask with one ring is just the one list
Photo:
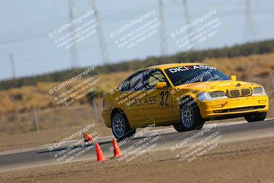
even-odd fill
[[(180, 143), (182, 143), (184, 139), (195, 136), (195, 134), (197, 136), (197, 134), (199, 134), (199, 132), (201, 131), (204, 132), (203, 136), (197, 136), (194, 141), (190, 141), (189, 143), (184, 144), (184, 146), (187, 147), (197, 141), (201, 141), (201, 139), (205, 138), (206, 136), (210, 136), (210, 134), (212, 134), (213, 132), (220, 132), (220, 134), (222, 135), (219, 143), (229, 143), (234, 141), (248, 140), (252, 138), (274, 136), (273, 119), (258, 121), (254, 123), (240, 121), (232, 123), (218, 123), (214, 125), (215, 127), (208, 130), (208, 132), (206, 132), (205, 130), (209, 129), (208, 127), (212, 127), (212, 125), (205, 125), (201, 130), (194, 130), (191, 132), (179, 133), (176, 132), (173, 128), (144, 132), (144, 134), (132, 139), (132, 141), (127, 141), (127, 143), (122, 144), (121, 150), (129, 151), (131, 147), (136, 145), (136, 143), (141, 146), (143, 143), (149, 142), (149, 140), (153, 141), (153, 143), (155, 144), (155, 146), (149, 149), (149, 151), (171, 150), (172, 148), (177, 147), (176, 145), (180, 145)], [(98, 139), (98, 143), (100, 144), (100, 147), (107, 158), (113, 157), (113, 152), (111, 151), (112, 138), (112, 136), (108, 136)], [(142, 143), (142, 141), (144, 142)], [(58, 161), (58, 158), (55, 158), (54, 156), (55, 154), (63, 155), (61, 152), (73, 143), (75, 143), (75, 141), (69, 141), (62, 147), (55, 148), (51, 151), (49, 151), (49, 147), (51, 147), (52, 145), (42, 145), (29, 149), (19, 149), (17, 151), (2, 152), (0, 153), (0, 171), (8, 171), (10, 169), (20, 169), (25, 167), (43, 166), (46, 164), (66, 163), (65, 160)], [(83, 154), (72, 160), (72, 162), (83, 160), (95, 161), (96, 153), (94, 144), (85, 143), (81, 145), (74, 146), (70, 150), (72, 151), (73, 149), (77, 149), (77, 147), (80, 146), (82, 147), (82, 149), (88, 150), (84, 151)], [(137, 148), (139, 146), (135, 147)], [(135, 153), (138, 153), (138, 151), (136, 151)], [(61, 155), (57, 157), (61, 157)]]

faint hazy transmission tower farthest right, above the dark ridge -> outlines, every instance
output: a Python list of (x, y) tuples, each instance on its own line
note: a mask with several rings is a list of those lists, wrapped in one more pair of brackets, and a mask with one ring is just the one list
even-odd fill
[(257, 36), (257, 29), (256, 29), (256, 25), (255, 25), (255, 20), (254, 20), (254, 16), (253, 16), (253, 12), (251, 9), (251, 0), (245, 0), (245, 16), (246, 16), (246, 32), (245, 32), (245, 36), (247, 38), (249, 38), (249, 36), (251, 36), (251, 38), (253, 40), (256, 40), (256, 36)]

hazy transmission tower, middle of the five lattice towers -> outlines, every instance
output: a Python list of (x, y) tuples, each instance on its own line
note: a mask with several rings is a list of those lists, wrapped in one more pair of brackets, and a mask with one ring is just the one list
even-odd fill
[(164, 7), (162, 0), (159, 0), (159, 10), (160, 10), (160, 51), (161, 56), (164, 56), (167, 54), (168, 44), (167, 44), (167, 38), (166, 38), (166, 32), (165, 32), (165, 24), (164, 24)]

